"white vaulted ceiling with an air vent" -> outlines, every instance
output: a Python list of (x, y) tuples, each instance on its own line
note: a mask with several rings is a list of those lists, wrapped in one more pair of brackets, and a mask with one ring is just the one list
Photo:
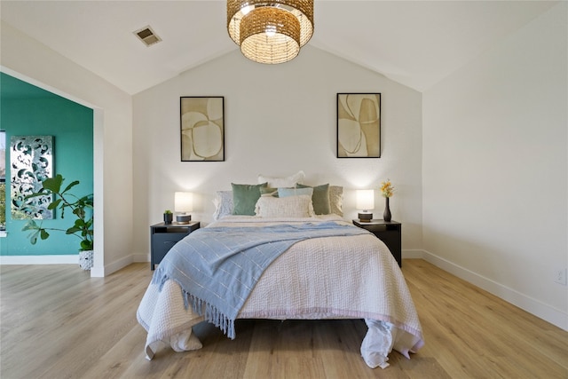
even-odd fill
[[(425, 91), (557, 3), (316, 0), (308, 44)], [(130, 94), (239, 49), (223, 0), (2, 0), (0, 15)], [(133, 34), (146, 26), (161, 43)]]

